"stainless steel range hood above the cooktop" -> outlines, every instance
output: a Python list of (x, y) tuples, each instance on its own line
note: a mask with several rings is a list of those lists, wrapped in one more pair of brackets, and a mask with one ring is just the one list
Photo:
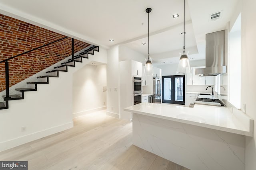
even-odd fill
[(216, 76), (227, 72), (225, 66), (225, 30), (206, 34), (206, 68), (196, 68), (200, 76)]

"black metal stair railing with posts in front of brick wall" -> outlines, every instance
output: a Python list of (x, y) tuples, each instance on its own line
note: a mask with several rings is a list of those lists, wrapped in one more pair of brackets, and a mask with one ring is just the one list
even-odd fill
[[(32, 52), (32, 51), (35, 51), (35, 50), (37, 50), (37, 49), (40, 49), (40, 48), (42, 48), (42, 47), (46, 47), (46, 46), (48, 46), (48, 45), (51, 45), (51, 44), (53, 44), (53, 43), (56, 43), (56, 42), (58, 42), (58, 41), (61, 41), (61, 40), (63, 40), (63, 39), (66, 39), (66, 38), (68, 38), (68, 37), (64, 37), (64, 38), (58, 39), (58, 40), (53, 41), (53, 42), (51, 42), (51, 43), (42, 45), (42, 46), (37, 47), (37, 48), (35, 48), (35, 49), (26, 51), (26, 52), (24, 52), (24, 53), (21, 53), (21, 54), (19, 54), (19, 55), (14, 56), (14, 57), (10, 57), (10, 58), (8, 58), (8, 59), (5, 59), (5, 60), (3, 60), (3, 61), (0, 61), (0, 63), (4, 63), (4, 62), (5, 62), (5, 89), (6, 89), (6, 97), (4, 98), (4, 100), (6, 101), (6, 107), (7, 107), (7, 108), (8, 108), (8, 100), (10, 100), (10, 92), (9, 92), (10, 82), (9, 82), (9, 63), (8, 63), (8, 61), (11, 60), (11, 59), (14, 59), (14, 58), (16, 58), (16, 57), (19, 57), (19, 56), (21, 56), (21, 55), (24, 55), (24, 54), (30, 53), (30, 52)], [(72, 60), (74, 61), (74, 39), (73, 39), (73, 38), (72, 38)]]

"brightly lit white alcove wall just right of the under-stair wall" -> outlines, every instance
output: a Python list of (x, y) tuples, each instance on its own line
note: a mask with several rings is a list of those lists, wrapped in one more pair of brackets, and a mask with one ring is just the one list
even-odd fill
[[(97, 63), (98, 64), (98, 63)], [(107, 65), (86, 65), (73, 74), (73, 117), (92, 110), (105, 109)]]

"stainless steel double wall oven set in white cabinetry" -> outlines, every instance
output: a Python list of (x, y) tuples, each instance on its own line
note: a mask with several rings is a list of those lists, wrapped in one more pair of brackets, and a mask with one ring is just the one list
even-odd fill
[(133, 105), (142, 102), (142, 78), (132, 77)]

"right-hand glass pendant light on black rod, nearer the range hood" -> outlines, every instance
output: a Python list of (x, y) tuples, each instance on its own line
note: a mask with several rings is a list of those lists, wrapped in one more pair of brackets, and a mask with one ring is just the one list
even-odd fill
[(180, 56), (180, 61), (179, 61), (179, 65), (178, 65), (178, 69), (177, 69), (177, 74), (181, 74), (181, 73), (186, 73), (186, 69), (188, 69), (187, 71), (191, 72), (190, 69), (190, 64), (189, 64), (189, 59), (188, 59), (188, 55), (185, 54), (185, 0), (184, 0), (184, 27), (183, 27), (183, 55)]

